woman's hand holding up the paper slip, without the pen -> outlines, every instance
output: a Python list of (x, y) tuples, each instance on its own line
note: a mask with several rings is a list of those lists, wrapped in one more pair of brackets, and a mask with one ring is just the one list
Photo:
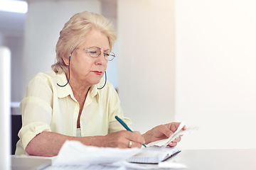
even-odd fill
[[(144, 135), (142, 135), (145, 140), (146, 144), (149, 144), (150, 142), (154, 142), (157, 140), (164, 140), (169, 138), (174, 132), (178, 129), (178, 126), (181, 123), (168, 123), (165, 125), (158, 125), (155, 128), (147, 131)], [(185, 130), (185, 127), (183, 127), (183, 130)], [(181, 136), (177, 137), (175, 140), (173, 140), (171, 143), (169, 143), (170, 147), (175, 147), (178, 142), (181, 141)]]

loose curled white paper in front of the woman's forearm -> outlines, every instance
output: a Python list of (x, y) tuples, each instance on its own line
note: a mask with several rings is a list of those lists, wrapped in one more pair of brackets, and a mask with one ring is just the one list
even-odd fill
[(141, 152), (139, 148), (91, 147), (78, 141), (66, 141), (53, 165), (110, 164)]

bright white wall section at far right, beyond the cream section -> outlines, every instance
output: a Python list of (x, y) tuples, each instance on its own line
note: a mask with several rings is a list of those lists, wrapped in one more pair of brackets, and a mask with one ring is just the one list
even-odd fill
[(256, 1), (176, 1), (176, 118), (193, 149), (256, 148)]

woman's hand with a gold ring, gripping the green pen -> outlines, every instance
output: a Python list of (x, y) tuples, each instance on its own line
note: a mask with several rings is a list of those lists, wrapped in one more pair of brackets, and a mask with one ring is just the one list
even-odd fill
[[(132, 145), (130, 145), (132, 141)], [(142, 147), (145, 143), (144, 137), (142, 137), (140, 132), (134, 131), (130, 132), (128, 130), (122, 130), (119, 132), (112, 132), (102, 139), (102, 147)]]

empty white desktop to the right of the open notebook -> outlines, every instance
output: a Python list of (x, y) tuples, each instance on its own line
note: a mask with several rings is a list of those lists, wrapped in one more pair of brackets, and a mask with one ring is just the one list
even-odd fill
[(176, 161), (188, 170), (256, 170), (256, 149), (183, 150)]

